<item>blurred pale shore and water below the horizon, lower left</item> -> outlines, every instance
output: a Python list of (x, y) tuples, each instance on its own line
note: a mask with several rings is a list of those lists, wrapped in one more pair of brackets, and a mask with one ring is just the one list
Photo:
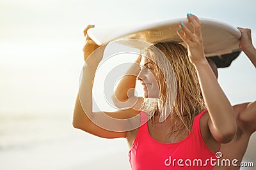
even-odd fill
[(1, 117), (0, 122), (1, 170), (130, 169), (125, 139), (74, 129), (72, 115)]

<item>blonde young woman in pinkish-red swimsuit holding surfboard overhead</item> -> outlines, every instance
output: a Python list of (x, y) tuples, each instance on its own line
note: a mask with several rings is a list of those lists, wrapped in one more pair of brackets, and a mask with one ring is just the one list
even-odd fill
[[(126, 138), (131, 147), (129, 160), (132, 169), (213, 169), (215, 152), (220, 150), (221, 143), (228, 143), (236, 133), (232, 106), (205, 59), (200, 20), (191, 14), (187, 18), (189, 24), (193, 25), (193, 31), (180, 23), (177, 34), (188, 49), (177, 43), (157, 43), (143, 50), (138, 80), (143, 85), (145, 107), (141, 111), (130, 108), (115, 113), (104, 112), (109, 117), (118, 119), (129, 120), (139, 116), (140, 127), (131, 131), (108, 131), (97, 125), (97, 122), (105, 122), (104, 125), (108, 126), (102, 113), (92, 112), (93, 76), (102, 58), (104, 46), (95, 50), (99, 46), (88, 36), (86, 38), (86, 62), (74, 109), (73, 125), (102, 138)], [(166, 56), (172, 66), (177, 81), (176, 96), (168, 89), (168, 81), (163, 81), (170, 68), (164, 67), (163, 70), (164, 63), (160, 63), (160, 66), (154, 62), (158, 61), (159, 51), (156, 49)], [(96, 57), (88, 58), (94, 50)], [(135, 85), (134, 77), (125, 78), (128, 80), (126, 85), (121, 82), (118, 88), (124, 85), (124, 89), (127, 89), (129, 81), (131, 83), (128, 86)], [(124, 92), (120, 95), (123, 99), (118, 96), (117, 91), (115, 94), (120, 101), (129, 100), (124, 99), (128, 98), (124, 96)], [(166, 108), (170, 104), (168, 100), (173, 97), (175, 101), (173, 107), (169, 107), (169, 115)], [(152, 98), (157, 100), (151, 100)], [(163, 119), (164, 115), (166, 117)], [(134, 122), (124, 126), (132, 124)]]

